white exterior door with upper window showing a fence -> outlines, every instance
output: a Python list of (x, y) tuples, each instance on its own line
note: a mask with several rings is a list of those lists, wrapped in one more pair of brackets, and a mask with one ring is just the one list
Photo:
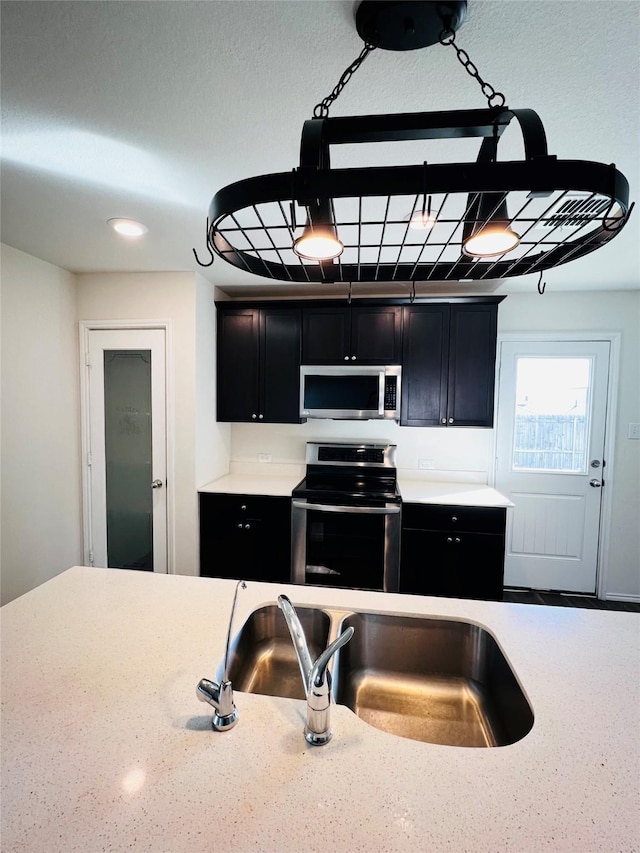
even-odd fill
[(505, 586), (596, 592), (609, 349), (501, 345), (496, 488), (514, 504)]

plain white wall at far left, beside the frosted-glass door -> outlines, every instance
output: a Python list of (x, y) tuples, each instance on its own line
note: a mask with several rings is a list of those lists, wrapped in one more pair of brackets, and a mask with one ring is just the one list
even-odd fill
[(76, 278), (1, 247), (5, 604), (82, 562)]

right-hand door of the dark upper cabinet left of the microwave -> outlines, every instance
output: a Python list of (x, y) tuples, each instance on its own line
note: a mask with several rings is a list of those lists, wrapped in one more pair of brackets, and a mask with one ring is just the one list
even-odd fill
[(260, 311), (261, 420), (300, 423), (300, 311)]

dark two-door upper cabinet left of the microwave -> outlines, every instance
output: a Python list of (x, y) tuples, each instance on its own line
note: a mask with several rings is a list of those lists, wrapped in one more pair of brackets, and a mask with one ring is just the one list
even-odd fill
[(218, 307), (219, 421), (300, 423), (301, 315)]

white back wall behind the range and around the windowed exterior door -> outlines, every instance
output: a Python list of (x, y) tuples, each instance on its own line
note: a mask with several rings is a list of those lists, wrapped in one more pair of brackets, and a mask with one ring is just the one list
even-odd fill
[[(617, 291), (511, 294), (498, 308), (498, 334), (520, 331), (621, 332), (615, 458), (607, 488), (613, 491), (612, 535), (607, 557), (607, 595), (640, 596), (640, 441), (627, 438), (640, 422), (640, 293)], [(491, 482), (493, 430), (399, 427), (377, 421), (315, 421), (306, 424), (234, 424), (231, 464), (304, 463), (305, 444), (315, 438), (382, 438), (398, 445), (398, 468), (433, 460), (435, 476), (471, 475)], [(268, 465), (264, 466), (268, 470)], [(428, 473), (431, 476), (431, 473)]]

